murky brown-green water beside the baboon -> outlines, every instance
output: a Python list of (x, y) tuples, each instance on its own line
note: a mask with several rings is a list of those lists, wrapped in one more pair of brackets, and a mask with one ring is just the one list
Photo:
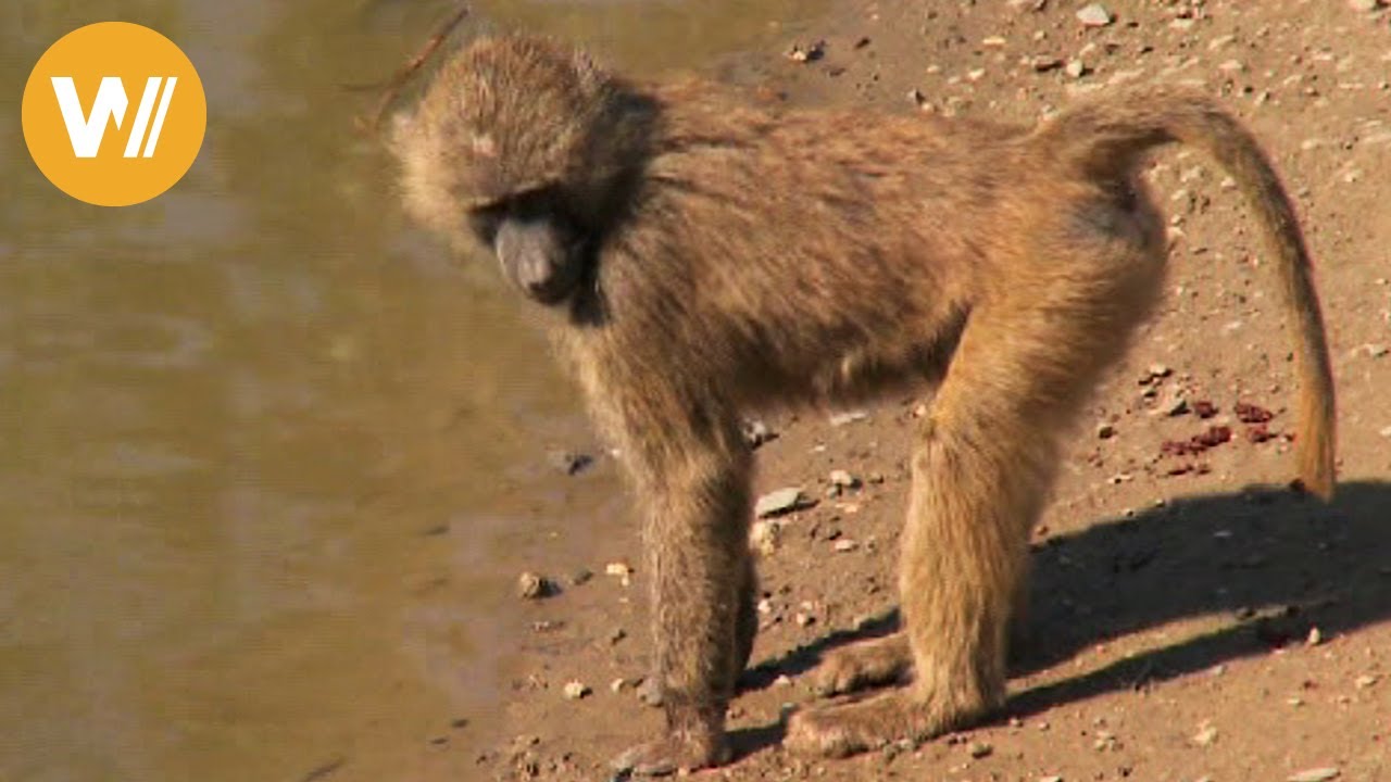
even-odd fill
[[(648, 72), (810, 13), (481, 6)], [(448, 8), (0, 4), (0, 779), (469, 778), (430, 740), (505, 697), (517, 570), (627, 534), (612, 469), (548, 465), (594, 444), (523, 310), (405, 225), (352, 129), (342, 85)], [(17, 113), (49, 43), (113, 18), (185, 49), (209, 131), (174, 191), (103, 210)]]

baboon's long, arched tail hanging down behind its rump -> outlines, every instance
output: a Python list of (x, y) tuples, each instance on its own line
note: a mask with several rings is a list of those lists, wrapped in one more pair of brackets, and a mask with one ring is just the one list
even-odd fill
[(1081, 103), (1043, 122), (1034, 139), (1052, 160), (1099, 178), (1127, 175), (1149, 149), (1180, 142), (1206, 150), (1237, 181), (1264, 228), (1284, 306), (1295, 320), (1299, 477), (1306, 490), (1330, 498), (1335, 420), (1323, 314), (1294, 206), (1256, 139), (1206, 95), (1163, 86)]

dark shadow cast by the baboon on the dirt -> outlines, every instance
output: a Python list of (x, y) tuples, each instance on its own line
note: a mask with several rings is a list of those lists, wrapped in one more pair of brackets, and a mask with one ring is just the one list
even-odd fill
[[(1032, 584), (1027, 640), (1011, 660), (1014, 675), (1177, 619), (1225, 615), (1232, 622), (1082, 676), (1017, 692), (1006, 715), (1301, 643), (1314, 626), (1327, 639), (1391, 619), (1391, 484), (1341, 484), (1331, 504), (1283, 490), (1173, 501), (1050, 538), (1034, 551)], [(833, 633), (761, 662), (746, 686), (805, 672), (828, 650), (896, 626), (890, 611), (860, 630)], [(778, 737), (757, 729), (736, 736), (736, 744), (751, 751)]]

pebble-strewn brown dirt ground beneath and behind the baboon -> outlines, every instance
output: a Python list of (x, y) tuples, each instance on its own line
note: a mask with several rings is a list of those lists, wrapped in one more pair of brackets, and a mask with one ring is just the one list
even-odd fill
[[(1289, 342), (1255, 223), (1209, 160), (1164, 153), (1150, 178), (1171, 216), (1166, 306), (1099, 390), (1035, 530), (1029, 632), (1006, 710), (850, 760), (780, 749), (780, 714), (812, 699), (800, 675), (893, 621), (918, 401), (771, 417), (759, 490), (800, 487), (817, 504), (769, 525), (757, 667), (730, 708), (739, 757), (698, 778), (1391, 779), (1391, 10), (1106, 0), (1111, 22), (1092, 28), (1082, 6), (842, 1), (783, 49), (711, 71), (793, 104), (1025, 122), (1125, 82), (1223, 96), (1306, 221), (1340, 392), (1340, 494), (1321, 505), (1284, 488)], [(794, 45), (819, 57), (787, 57)], [(1274, 413), (1266, 434), (1238, 402)], [(1164, 454), (1212, 426), (1232, 438)], [(832, 488), (832, 470), (858, 486)], [(481, 721), (497, 726), (487, 740), (452, 750), (474, 753), (479, 779), (604, 779), (609, 757), (658, 729), (634, 686), (648, 651), (644, 573), (625, 586), (608, 572), (640, 561), (636, 525), (615, 529), (630, 534), (605, 561), (570, 561), (558, 543), (547, 575), (566, 589), (519, 601), (506, 712)], [(581, 569), (594, 576), (566, 580)], [(584, 697), (568, 697), (573, 682)]]

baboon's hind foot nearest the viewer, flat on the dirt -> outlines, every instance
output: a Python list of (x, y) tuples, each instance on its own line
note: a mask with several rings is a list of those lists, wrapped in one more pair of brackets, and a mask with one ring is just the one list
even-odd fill
[(901, 693), (798, 711), (787, 721), (783, 742), (811, 757), (847, 757), (899, 739), (925, 737), (925, 719)]

